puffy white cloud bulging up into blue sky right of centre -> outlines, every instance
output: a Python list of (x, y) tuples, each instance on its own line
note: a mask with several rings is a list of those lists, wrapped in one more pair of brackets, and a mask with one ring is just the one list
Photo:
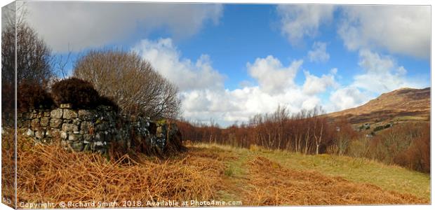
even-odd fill
[(288, 87), (294, 87), (294, 79), (303, 61), (295, 60), (289, 66), (283, 66), (279, 59), (272, 55), (257, 58), (253, 64), (246, 64), (248, 73), (255, 78), (265, 92), (274, 94)]

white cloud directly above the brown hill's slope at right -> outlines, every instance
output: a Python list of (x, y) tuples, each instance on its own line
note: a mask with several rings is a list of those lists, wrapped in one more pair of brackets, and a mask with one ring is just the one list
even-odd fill
[(423, 88), (427, 79), (406, 76), (407, 70), (395, 59), (370, 50), (359, 51), (359, 66), (363, 70), (353, 77), (352, 83), (330, 94), (328, 111), (340, 111), (362, 105), (384, 92), (402, 87)]

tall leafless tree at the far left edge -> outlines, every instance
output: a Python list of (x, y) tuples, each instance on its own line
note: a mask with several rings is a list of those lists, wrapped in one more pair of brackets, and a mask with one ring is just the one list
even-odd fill
[(18, 95), (20, 95), (22, 83), (46, 87), (46, 83), (53, 76), (50, 48), (25, 22), (27, 13), (25, 3), (15, 6), (18, 5), (11, 3), (2, 8), (2, 18), (4, 18), (2, 20), (4, 25), (1, 28), (2, 120), (10, 118), (7, 116), (11, 116), (15, 109), (15, 87), (18, 87)]

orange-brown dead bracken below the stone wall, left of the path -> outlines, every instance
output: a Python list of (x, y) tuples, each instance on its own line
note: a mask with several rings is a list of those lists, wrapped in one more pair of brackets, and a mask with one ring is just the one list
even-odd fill
[(220, 162), (190, 155), (138, 158), (124, 155), (112, 162), (98, 154), (36, 145), (18, 154), (18, 202), (212, 200), (224, 169)]

